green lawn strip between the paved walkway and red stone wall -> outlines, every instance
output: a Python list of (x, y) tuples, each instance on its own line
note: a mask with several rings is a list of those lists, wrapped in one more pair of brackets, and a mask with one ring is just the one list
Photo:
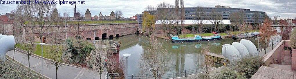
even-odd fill
[[(22, 44), (16, 44), (15, 46), (20, 48), (20, 49), (24, 48)], [(49, 54), (46, 52), (46, 49), (49, 49), (49, 46), (43, 45), (43, 57), (49, 59)], [(41, 45), (36, 45), (35, 46), (35, 51), (34, 51), (33, 54), (41, 56)]]

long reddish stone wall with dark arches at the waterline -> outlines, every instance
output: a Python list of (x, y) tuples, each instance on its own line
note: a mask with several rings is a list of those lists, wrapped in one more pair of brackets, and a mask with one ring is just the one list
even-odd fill
[[(60, 33), (59, 38), (65, 39), (66, 32), (63, 25), (49, 26), (44, 31), (43, 36), (50, 37), (52, 34), (55, 34), (54, 30), (57, 29), (59, 29)], [(79, 34), (82, 38), (88, 40), (108, 39), (138, 32), (138, 23), (68, 25), (67, 27), (67, 37), (75, 37)], [(35, 31), (35, 35), (38, 36), (37, 31)]]

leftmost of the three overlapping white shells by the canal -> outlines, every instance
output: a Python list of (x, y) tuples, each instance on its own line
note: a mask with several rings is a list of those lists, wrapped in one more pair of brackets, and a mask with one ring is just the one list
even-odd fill
[(239, 51), (230, 44), (224, 44), (224, 46), (222, 47), (222, 54), (224, 57), (226, 57), (229, 60), (229, 62), (234, 62), (242, 58), (241, 55), (239, 54)]

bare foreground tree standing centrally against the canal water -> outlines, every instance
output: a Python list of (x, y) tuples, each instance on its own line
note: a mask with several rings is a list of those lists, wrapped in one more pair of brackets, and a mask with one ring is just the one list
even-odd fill
[(149, 38), (149, 47), (147, 50), (144, 50), (139, 60), (138, 66), (140, 67), (141, 73), (154, 77), (155, 79), (164, 73), (164, 65), (168, 59), (163, 58), (163, 56), (167, 54), (168, 51), (161, 48), (162, 45), (158, 43), (154, 36), (151, 36)]

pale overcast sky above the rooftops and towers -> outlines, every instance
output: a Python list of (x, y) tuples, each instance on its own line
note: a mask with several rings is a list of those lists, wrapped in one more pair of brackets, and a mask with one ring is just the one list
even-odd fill
[[(12, 0), (4, 0), (12, 1)], [(20, 1), (20, 0), (15, 0)], [(65, 0), (65, 1), (82, 1), (82, 0)], [(85, 0), (85, 4), (77, 4), (77, 11), (85, 13), (89, 9), (91, 16), (110, 15), (112, 11), (122, 10), (125, 17), (132, 17), (141, 12), (147, 5), (155, 6), (161, 2), (175, 4), (174, 0)], [(247, 8), (251, 11), (264, 11), (271, 19), (274, 16), (279, 18), (296, 18), (296, 1), (295, 0), (184, 0), (185, 7), (215, 7), (215, 5), (230, 6), (232, 8)], [(17, 4), (0, 4), (0, 14), (5, 14), (15, 9)], [(65, 11), (70, 16), (74, 15), (74, 5), (57, 4), (60, 13)]]

